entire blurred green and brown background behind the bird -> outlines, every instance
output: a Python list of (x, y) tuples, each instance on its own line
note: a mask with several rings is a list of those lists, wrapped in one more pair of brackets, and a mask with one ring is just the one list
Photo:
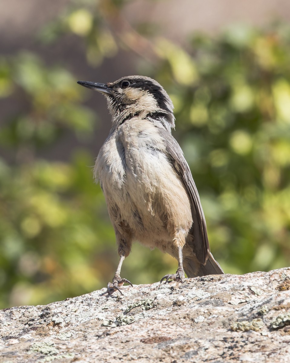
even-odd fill
[[(0, 307), (99, 289), (118, 256), (94, 158), (105, 100), (77, 80), (153, 77), (226, 273), (290, 262), (290, 3), (10, 0), (0, 5)], [(177, 262), (135, 244), (122, 276)]]

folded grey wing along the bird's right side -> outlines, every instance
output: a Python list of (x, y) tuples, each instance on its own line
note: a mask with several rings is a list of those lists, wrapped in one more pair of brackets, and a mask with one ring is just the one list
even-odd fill
[(160, 129), (160, 131), (166, 146), (166, 151), (168, 152), (168, 157), (176, 172), (181, 176), (190, 197), (193, 224), (186, 242), (193, 248), (193, 252), (196, 254), (198, 261), (202, 265), (205, 265), (209, 256), (209, 240), (200, 196), (198, 195), (190, 168), (178, 142), (165, 129)]

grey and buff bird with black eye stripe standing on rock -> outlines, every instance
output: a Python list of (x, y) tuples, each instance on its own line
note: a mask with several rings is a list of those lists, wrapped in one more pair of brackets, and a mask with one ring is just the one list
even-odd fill
[(127, 76), (114, 82), (78, 81), (103, 94), (112, 128), (94, 166), (120, 257), (108, 293), (131, 282), (121, 266), (134, 241), (177, 259), (176, 273), (165, 280), (223, 274), (210, 252), (200, 197), (184, 153), (172, 136), (173, 103), (154, 79)]

